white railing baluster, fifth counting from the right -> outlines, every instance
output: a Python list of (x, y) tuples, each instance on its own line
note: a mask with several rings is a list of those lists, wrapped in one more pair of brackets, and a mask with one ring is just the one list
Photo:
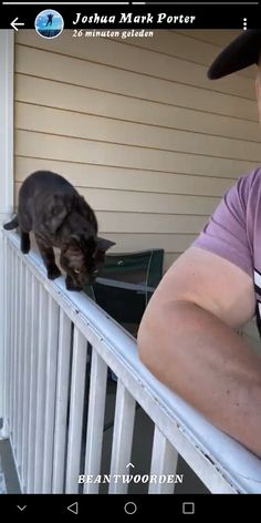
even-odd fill
[(72, 324), (61, 310), (59, 325), (58, 388), (53, 450), (54, 494), (62, 494), (64, 489), (67, 437), (67, 407), (70, 391), (70, 357)]

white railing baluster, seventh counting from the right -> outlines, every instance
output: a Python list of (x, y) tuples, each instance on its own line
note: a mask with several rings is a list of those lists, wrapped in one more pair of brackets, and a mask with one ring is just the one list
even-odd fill
[(35, 472), (34, 493), (42, 492), (43, 483), (43, 442), (44, 411), (46, 402), (46, 335), (48, 335), (48, 293), (41, 285), (39, 290), (39, 324), (38, 324), (38, 371), (36, 371), (36, 428), (35, 428)]

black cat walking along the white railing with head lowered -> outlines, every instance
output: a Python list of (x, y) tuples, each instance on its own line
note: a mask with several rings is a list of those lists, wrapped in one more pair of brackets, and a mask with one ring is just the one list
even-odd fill
[(18, 215), (6, 229), (20, 228), (21, 250), (30, 250), (29, 233), (34, 233), (50, 279), (61, 273), (53, 247), (61, 249), (61, 267), (66, 271), (66, 288), (81, 290), (98, 275), (105, 252), (114, 242), (97, 236), (94, 211), (65, 178), (49, 171), (36, 171), (22, 183)]

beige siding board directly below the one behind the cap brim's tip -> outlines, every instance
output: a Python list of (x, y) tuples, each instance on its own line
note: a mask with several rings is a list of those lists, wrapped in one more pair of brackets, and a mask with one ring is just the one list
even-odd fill
[(257, 122), (255, 101), (248, 99), (242, 101), (234, 93), (228, 95), (210, 92), (208, 89), (145, 78), (143, 74), (109, 69), (91, 62), (83, 63), (82, 60), (33, 48), (15, 47), (15, 71), (65, 82), (70, 85), (92, 88), (102, 92), (118, 93), (187, 109), (203, 107), (207, 112), (234, 115)]

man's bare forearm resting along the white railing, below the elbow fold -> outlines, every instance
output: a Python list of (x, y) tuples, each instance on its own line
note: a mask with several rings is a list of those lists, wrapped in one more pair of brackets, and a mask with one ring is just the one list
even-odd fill
[(215, 425), (261, 455), (261, 358), (200, 307), (167, 304), (144, 317), (139, 355), (150, 371)]

